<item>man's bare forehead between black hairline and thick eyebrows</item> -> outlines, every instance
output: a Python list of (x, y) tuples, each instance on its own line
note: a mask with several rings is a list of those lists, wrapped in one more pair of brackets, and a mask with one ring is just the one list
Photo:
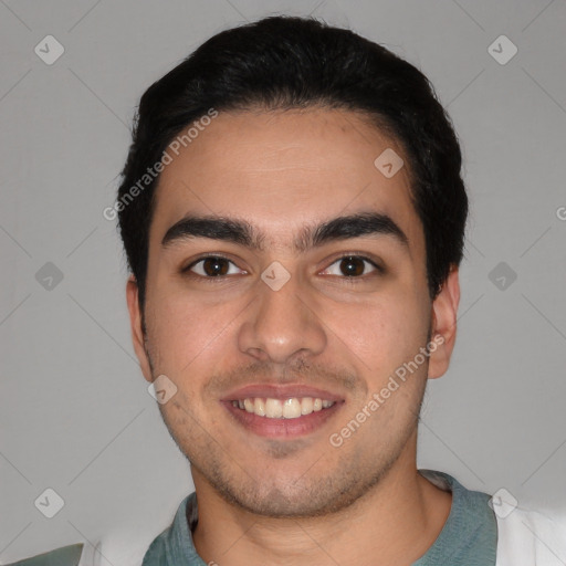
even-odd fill
[[(390, 178), (375, 165), (386, 150), (406, 164)], [(422, 238), (401, 147), (356, 113), (221, 112), (177, 153), (156, 191), (155, 239), (189, 213), (244, 219), (275, 243), (368, 210), (390, 216), (413, 244)]]

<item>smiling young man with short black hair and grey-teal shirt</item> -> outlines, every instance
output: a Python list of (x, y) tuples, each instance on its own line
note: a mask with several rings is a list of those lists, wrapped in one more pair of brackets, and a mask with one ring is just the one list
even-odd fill
[(314, 20), (219, 33), (144, 94), (127, 303), (196, 488), (144, 566), (534, 564), (488, 494), (416, 467), (455, 342), (460, 169), (427, 78)]

